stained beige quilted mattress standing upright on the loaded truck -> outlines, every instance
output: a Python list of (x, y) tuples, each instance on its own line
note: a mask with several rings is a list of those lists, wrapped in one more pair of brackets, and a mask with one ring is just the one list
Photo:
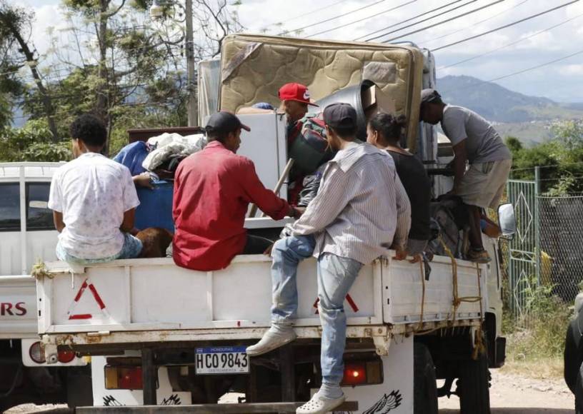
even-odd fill
[(277, 107), (277, 91), (288, 82), (307, 85), (318, 101), (368, 79), (409, 119), (407, 143), (415, 151), (423, 62), (422, 52), (409, 46), (230, 35), (221, 52), (219, 108), (236, 112), (257, 102)]

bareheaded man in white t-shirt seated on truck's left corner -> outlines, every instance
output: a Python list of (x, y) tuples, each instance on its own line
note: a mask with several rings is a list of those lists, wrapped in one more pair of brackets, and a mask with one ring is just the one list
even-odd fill
[(139, 256), (141, 241), (129, 234), (139, 205), (136, 187), (126, 166), (101, 155), (107, 138), (104, 124), (81, 115), (70, 132), (75, 159), (55, 172), (49, 196), (60, 233), (57, 258), (102, 263)]

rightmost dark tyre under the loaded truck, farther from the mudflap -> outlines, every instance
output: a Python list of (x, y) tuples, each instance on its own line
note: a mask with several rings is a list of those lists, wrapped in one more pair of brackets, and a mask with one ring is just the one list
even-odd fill
[(464, 360), (459, 364), (457, 394), (462, 414), (490, 414), (490, 373), (488, 354), (477, 360)]

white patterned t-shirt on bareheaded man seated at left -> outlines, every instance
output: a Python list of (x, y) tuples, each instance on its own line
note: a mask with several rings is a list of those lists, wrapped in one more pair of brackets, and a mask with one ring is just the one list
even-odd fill
[(77, 258), (107, 258), (124, 246), (119, 226), (139, 206), (126, 166), (99, 153), (84, 153), (54, 173), (49, 208), (63, 213), (61, 246)]

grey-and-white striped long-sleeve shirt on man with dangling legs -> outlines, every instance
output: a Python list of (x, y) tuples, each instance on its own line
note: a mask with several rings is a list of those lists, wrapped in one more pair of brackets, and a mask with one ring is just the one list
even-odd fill
[(314, 234), (316, 250), (368, 264), (387, 246), (407, 243), (411, 206), (394, 162), (368, 143), (352, 143), (329, 161), (317, 196), (292, 226)]

